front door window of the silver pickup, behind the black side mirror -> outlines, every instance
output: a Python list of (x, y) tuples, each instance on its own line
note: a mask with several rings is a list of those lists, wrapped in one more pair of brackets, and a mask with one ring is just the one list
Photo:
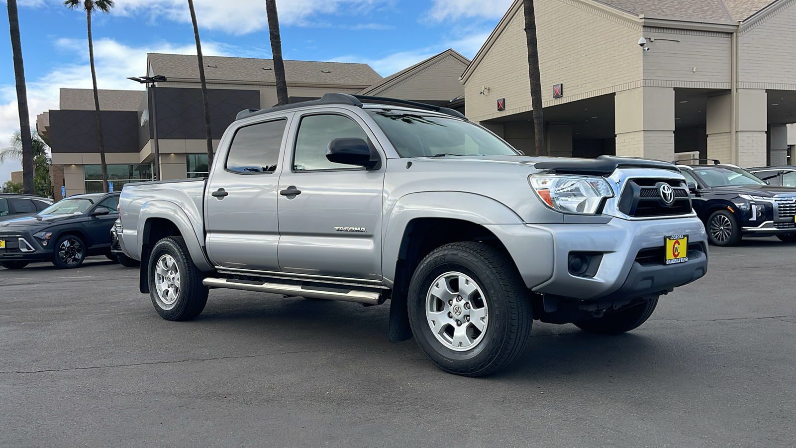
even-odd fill
[(351, 165), (332, 163), (326, 159), (326, 147), (329, 146), (329, 142), (343, 137), (368, 140), (362, 128), (347, 116), (305, 116), (298, 125), (293, 169), (310, 171), (351, 168)]

